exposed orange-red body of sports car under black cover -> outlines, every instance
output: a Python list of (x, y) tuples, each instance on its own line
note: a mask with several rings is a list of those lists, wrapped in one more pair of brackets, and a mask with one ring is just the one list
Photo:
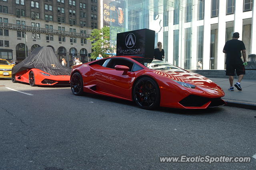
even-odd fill
[(12, 75), (12, 82), (18, 81), (36, 85), (65, 85), (69, 84), (70, 75), (50, 75), (40, 69), (26, 69)]

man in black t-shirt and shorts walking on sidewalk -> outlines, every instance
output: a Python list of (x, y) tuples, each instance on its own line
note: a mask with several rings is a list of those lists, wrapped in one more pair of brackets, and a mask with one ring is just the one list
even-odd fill
[[(246, 62), (246, 51), (244, 42), (238, 40), (239, 33), (235, 32), (233, 34), (233, 39), (229, 40), (225, 43), (223, 48), (223, 53), (226, 53), (226, 75), (229, 76), (230, 88), (229, 91), (234, 91), (233, 81), (235, 70), (236, 74), (238, 75), (238, 81), (234, 85), (239, 91), (242, 90), (240, 85), (241, 80), (245, 75), (244, 65), (247, 65)], [(241, 51), (243, 54), (244, 62), (241, 59)]]

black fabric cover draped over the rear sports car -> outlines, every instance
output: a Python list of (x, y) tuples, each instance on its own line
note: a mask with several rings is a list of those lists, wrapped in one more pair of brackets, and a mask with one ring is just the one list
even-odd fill
[(58, 61), (52, 47), (37, 47), (22, 62), (12, 67), (12, 74), (26, 69), (40, 69), (50, 75), (70, 75), (71, 70)]

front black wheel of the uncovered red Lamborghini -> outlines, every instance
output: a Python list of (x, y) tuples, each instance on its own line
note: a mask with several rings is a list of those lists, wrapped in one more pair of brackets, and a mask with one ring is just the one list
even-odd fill
[(160, 90), (156, 81), (149, 77), (140, 78), (133, 88), (133, 99), (142, 109), (155, 109), (160, 104)]

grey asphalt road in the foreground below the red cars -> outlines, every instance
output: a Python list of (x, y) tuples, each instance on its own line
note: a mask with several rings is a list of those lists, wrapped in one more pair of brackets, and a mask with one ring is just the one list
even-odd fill
[[(7, 79), (0, 86), (1, 170), (256, 167), (255, 110), (147, 111), (119, 99), (75, 96), (69, 87)], [(160, 163), (160, 156), (181, 155), (250, 156), (251, 162)]]

